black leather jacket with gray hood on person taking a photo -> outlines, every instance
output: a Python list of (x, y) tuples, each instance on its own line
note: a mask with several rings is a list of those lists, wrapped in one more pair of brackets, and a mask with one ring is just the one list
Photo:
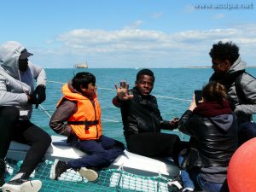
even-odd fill
[(179, 130), (192, 141), (186, 169), (228, 166), (237, 148), (237, 123), (233, 114), (213, 118), (187, 110), (179, 120)]

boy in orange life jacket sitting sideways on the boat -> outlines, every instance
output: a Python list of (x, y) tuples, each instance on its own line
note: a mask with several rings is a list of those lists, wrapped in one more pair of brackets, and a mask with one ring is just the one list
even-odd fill
[(58, 179), (67, 169), (78, 170), (88, 181), (98, 174), (90, 168), (109, 166), (125, 149), (124, 144), (102, 135), (101, 108), (96, 95), (96, 78), (91, 73), (77, 73), (62, 87), (63, 97), (57, 104), (49, 126), (67, 136), (67, 143), (88, 154), (68, 162), (55, 160), (50, 177)]

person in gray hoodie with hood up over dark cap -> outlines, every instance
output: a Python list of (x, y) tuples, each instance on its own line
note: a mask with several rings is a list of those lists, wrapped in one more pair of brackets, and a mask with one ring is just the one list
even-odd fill
[[(49, 134), (30, 121), (32, 105), (38, 108), (46, 98), (46, 74), (42, 67), (28, 61), (31, 55), (15, 41), (0, 46), (0, 186), (3, 185), (3, 191), (37, 192), (41, 181), (28, 178), (51, 143)], [(19, 172), (9, 183), (4, 183), (4, 160), (12, 140), (28, 144), (30, 148)]]

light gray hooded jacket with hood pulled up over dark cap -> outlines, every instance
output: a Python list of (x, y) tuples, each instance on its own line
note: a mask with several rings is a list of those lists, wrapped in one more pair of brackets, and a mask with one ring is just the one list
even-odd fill
[(32, 104), (27, 103), (27, 95), (37, 84), (46, 84), (46, 74), (42, 67), (28, 61), (26, 72), (19, 70), (19, 57), (24, 50), (20, 43), (9, 41), (0, 46), (0, 107), (15, 106), (20, 109), (20, 119), (30, 119)]

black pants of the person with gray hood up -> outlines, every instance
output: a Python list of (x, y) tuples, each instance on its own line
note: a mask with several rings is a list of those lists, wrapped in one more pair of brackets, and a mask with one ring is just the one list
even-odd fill
[(29, 120), (19, 120), (18, 108), (8, 106), (0, 108), (0, 159), (4, 159), (12, 140), (30, 145), (25, 160), (19, 172), (25, 172), (29, 177), (49, 148), (49, 134), (32, 124)]

